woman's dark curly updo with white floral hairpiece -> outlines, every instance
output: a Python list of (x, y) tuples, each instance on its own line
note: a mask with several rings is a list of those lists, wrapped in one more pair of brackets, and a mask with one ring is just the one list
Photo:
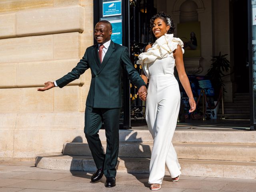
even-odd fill
[(166, 25), (170, 26), (170, 29), (168, 30), (167, 34), (173, 34), (175, 32), (175, 26), (174, 26), (173, 20), (170, 17), (170, 15), (166, 14), (165, 12), (158, 12), (158, 14), (155, 14), (150, 19), (150, 33), (151, 34), (153, 34), (152, 28), (153, 28), (153, 25), (154, 25), (154, 20), (156, 18), (162, 19), (166, 23)]

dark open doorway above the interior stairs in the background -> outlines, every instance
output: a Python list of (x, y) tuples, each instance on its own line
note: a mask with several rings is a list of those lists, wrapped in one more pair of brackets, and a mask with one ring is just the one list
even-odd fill
[[(238, 14), (243, 13), (243, 14)], [(234, 60), (234, 92), (248, 93), (248, 1), (230, 1), (230, 50)]]

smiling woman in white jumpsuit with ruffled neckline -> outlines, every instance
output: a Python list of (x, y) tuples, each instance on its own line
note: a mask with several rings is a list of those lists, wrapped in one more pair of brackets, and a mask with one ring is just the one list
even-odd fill
[(172, 145), (180, 109), (180, 90), (174, 77), (174, 66), (178, 70), (180, 82), (190, 102), (190, 112), (196, 109), (196, 102), (190, 88), (183, 63), (183, 42), (173, 37), (174, 24), (169, 15), (159, 12), (150, 20), (152, 33), (157, 40), (146, 47), (138, 56), (144, 73), (142, 78), (149, 80), (146, 97), (146, 121), (154, 138), (150, 160), (148, 183), (151, 190), (159, 190), (167, 166), (173, 181), (178, 181), (180, 164)]

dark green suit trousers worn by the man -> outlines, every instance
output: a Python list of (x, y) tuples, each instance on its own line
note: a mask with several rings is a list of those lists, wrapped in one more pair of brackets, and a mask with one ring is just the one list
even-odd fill
[[(106, 178), (116, 176), (116, 164), (119, 149), (120, 108), (92, 108), (86, 106), (84, 133), (92, 152), (97, 169), (103, 168)], [(99, 130), (104, 122), (107, 148), (102, 149)]]

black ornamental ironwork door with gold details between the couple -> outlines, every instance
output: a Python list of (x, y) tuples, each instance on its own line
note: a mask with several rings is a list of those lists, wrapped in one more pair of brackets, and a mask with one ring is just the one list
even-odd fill
[[(134, 68), (142, 73), (142, 66), (137, 64), (138, 55), (144, 52), (147, 44), (154, 42), (150, 34), (150, 18), (156, 14), (154, 0), (129, 0), (130, 2), (130, 58)], [(138, 97), (138, 88), (130, 84), (130, 119), (145, 121), (146, 102)]]

